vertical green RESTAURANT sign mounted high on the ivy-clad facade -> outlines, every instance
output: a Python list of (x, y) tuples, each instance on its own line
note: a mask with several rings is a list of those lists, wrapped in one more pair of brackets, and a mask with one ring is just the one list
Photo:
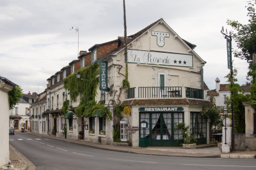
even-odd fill
[(109, 92), (108, 88), (108, 62), (100, 61), (100, 90)]

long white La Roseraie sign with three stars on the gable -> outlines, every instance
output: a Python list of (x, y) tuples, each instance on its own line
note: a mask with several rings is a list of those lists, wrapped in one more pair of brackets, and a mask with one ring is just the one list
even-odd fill
[(164, 66), (193, 67), (193, 55), (184, 53), (128, 50), (128, 62)]

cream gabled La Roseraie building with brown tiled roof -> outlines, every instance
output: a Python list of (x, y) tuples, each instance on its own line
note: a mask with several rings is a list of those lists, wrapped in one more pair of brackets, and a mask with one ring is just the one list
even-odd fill
[[(131, 146), (141, 146), (145, 139), (149, 146), (178, 146), (182, 134), (175, 130), (175, 123), (184, 122), (191, 127), (191, 134), (195, 135), (198, 144), (209, 143), (209, 123), (200, 114), (204, 106), (211, 105), (205, 100), (204, 93), (203, 66), (206, 62), (193, 50), (195, 45), (180, 38), (163, 18), (128, 36), (127, 40), (131, 88), (123, 87), (122, 37), (93, 45), (90, 52), (80, 53), (78, 60), (73, 60), (47, 80), (47, 110), (43, 113), (49, 122), (47, 134), (63, 136), (66, 118), (67, 138), (77, 138), (82, 131), (85, 141), (112, 145), (114, 127), (118, 127), (120, 140)], [(61, 115), (63, 102), (70, 100), (70, 92), (63, 87), (64, 78), (98, 62), (108, 64), (104, 71), (108, 70), (109, 89), (98, 87), (95, 101), (106, 104), (113, 120), (106, 120), (100, 111), (92, 117), (76, 117), (75, 109), (81, 96), (77, 96), (76, 102), (69, 103), (68, 114)], [(81, 78), (80, 81), (86, 80)], [(118, 104), (129, 106), (131, 113), (122, 113), (122, 118), (118, 118), (115, 113)], [(32, 121), (37, 120), (34, 117)], [(143, 125), (146, 125), (145, 129)]]

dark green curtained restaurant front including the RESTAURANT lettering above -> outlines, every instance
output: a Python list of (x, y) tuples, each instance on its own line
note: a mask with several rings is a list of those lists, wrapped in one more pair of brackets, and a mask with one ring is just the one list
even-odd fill
[[(184, 122), (184, 109), (161, 107), (139, 108), (140, 111), (140, 144), (148, 138), (148, 146), (179, 146), (182, 143), (182, 132), (176, 124)], [(143, 125), (147, 124), (147, 125)]]

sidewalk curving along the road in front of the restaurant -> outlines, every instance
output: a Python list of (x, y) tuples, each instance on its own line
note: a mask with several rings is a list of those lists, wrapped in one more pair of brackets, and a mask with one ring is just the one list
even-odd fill
[[(79, 139), (65, 139), (56, 136), (46, 136), (43, 134), (35, 134), (33, 132), (27, 132), (28, 134), (33, 134), (35, 136), (41, 136), (45, 138), (56, 139), (60, 141), (66, 141), (69, 143), (76, 143), (79, 145), (90, 146), (93, 148), (99, 148), (102, 150), (111, 150), (116, 152), (127, 152), (127, 153), (138, 153), (147, 155), (161, 155), (161, 156), (175, 156), (175, 157), (216, 157), (216, 158), (255, 158), (256, 151), (250, 152), (234, 152), (228, 154), (222, 154), (218, 146), (207, 147), (209, 145), (198, 146), (196, 149), (184, 149), (181, 147), (157, 147), (150, 146), (147, 148), (131, 147), (131, 146), (116, 146), (116, 145), (104, 145), (101, 143), (91, 143)], [(223, 156), (224, 155), (224, 156)], [(232, 155), (232, 156), (230, 156)], [(239, 155), (234, 156), (234, 155)]]

